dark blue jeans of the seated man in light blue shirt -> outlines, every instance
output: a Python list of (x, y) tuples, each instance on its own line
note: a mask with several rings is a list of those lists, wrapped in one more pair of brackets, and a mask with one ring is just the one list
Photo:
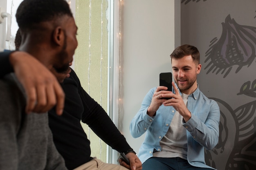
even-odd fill
[(191, 166), (186, 159), (151, 157), (142, 164), (142, 170), (213, 170)]

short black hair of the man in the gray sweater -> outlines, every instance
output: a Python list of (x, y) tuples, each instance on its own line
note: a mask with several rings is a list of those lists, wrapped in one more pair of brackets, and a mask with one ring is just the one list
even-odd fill
[(73, 17), (65, 0), (23, 0), (17, 9), (16, 21), (20, 29), (26, 29), (63, 15)]

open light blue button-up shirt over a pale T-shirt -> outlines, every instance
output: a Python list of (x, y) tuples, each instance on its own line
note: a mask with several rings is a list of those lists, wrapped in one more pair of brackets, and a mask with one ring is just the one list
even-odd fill
[[(142, 163), (153, 157), (154, 149), (161, 151), (159, 141), (164, 137), (170, 127), (176, 110), (173, 106), (161, 105), (155, 117), (147, 115), (155, 88), (150, 89), (144, 97), (139, 112), (130, 123), (130, 133), (137, 138), (146, 132), (144, 142), (139, 148), (139, 159)], [(174, 93), (174, 91), (173, 91)], [(188, 142), (187, 160), (192, 166), (211, 168), (205, 164), (204, 148), (213, 149), (219, 139), (220, 108), (212, 99), (208, 99), (197, 88), (189, 95), (187, 108), (191, 112), (189, 121), (184, 122)], [(168, 126), (166, 126), (168, 124)]]

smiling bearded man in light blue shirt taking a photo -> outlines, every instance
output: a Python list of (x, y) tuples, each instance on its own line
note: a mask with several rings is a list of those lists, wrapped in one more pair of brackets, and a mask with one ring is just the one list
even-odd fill
[(179, 46), (171, 54), (171, 63), (173, 91), (152, 88), (130, 123), (132, 137), (146, 132), (138, 154), (142, 168), (214, 169), (205, 164), (204, 148), (211, 150), (218, 143), (220, 109), (198, 88), (200, 53), (195, 46)]

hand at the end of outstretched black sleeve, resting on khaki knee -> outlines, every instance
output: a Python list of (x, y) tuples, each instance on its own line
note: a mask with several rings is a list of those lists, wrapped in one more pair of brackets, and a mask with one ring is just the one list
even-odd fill
[(139, 158), (137, 157), (137, 155), (130, 152), (130, 153), (126, 154), (126, 157), (129, 159), (130, 165), (127, 165), (127, 163), (125, 163), (125, 161), (122, 161), (120, 159), (119, 163), (121, 166), (124, 166), (124, 167), (128, 168), (129, 170), (142, 170), (142, 163), (139, 160)]

